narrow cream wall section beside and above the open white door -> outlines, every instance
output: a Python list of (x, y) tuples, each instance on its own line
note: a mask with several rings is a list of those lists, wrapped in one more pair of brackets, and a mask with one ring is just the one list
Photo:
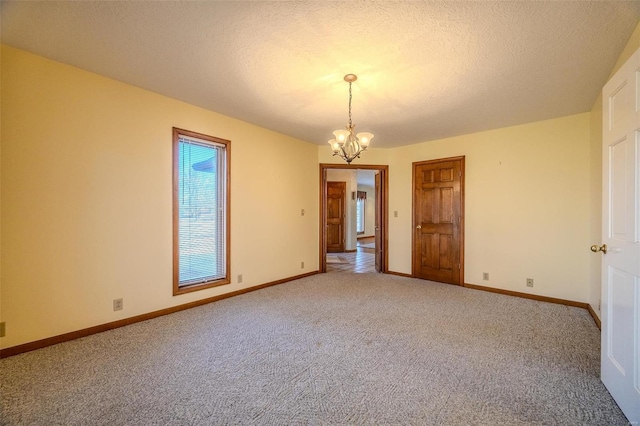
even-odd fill
[[(640, 49), (640, 22), (629, 38), (616, 65), (611, 70), (612, 77), (620, 67)], [(590, 113), (590, 203), (591, 226), (589, 230), (592, 244), (602, 240), (602, 92), (591, 107)], [(602, 287), (602, 258), (600, 254), (589, 259), (589, 304), (600, 316)]]

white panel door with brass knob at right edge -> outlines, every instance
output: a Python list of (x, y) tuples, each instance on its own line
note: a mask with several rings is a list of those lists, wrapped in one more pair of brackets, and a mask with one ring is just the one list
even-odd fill
[(640, 424), (640, 50), (602, 99), (601, 375), (629, 421)]

